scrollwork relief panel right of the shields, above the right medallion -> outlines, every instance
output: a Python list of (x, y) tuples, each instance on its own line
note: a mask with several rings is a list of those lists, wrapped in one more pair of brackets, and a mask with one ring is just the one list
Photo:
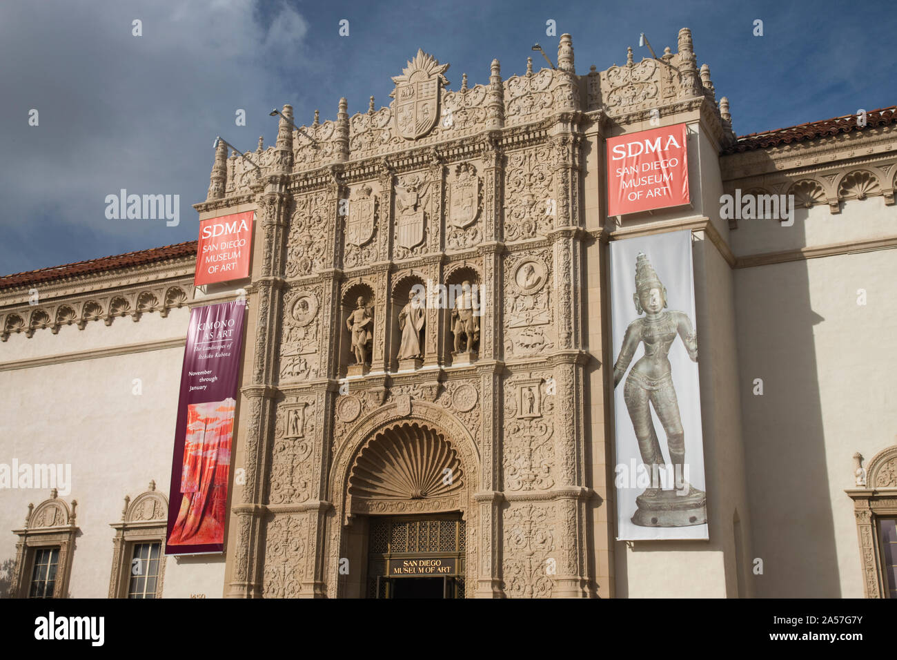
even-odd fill
[(556, 157), (549, 145), (508, 154), (504, 170), (507, 241), (545, 236), (553, 230), (557, 214), (553, 172)]

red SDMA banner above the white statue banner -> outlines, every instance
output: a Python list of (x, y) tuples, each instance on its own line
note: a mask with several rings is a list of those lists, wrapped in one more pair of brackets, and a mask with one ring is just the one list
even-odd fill
[(690, 201), (685, 125), (607, 139), (607, 215), (677, 207)]

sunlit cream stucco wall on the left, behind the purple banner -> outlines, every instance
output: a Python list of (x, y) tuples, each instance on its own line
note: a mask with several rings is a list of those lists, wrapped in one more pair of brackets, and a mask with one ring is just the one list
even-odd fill
[[(168, 318), (144, 313), (140, 321), (118, 318), (110, 326), (88, 322), (84, 330), (63, 326), (57, 335), (37, 330), (32, 338), (16, 333), (0, 344), (0, 418), (4, 434), (0, 462), (70, 463), (71, 492), (78, 502), (69, 593), (105, 598), (109, 594), (113, 537), (109, 526), (121, 519), (124, 497), (132, 498), (155, 480), (168, 494), (171, 451), (178, 408), (180, 369), (189, 310), (172, 309)], [(140, 344), (170, 339), (168, 348), (143, 350)], [(178, 340), (180, 339), (180, 342)], [(10, 363), (96, 349), (131, 347), (120, 355), (91, 356), (10, 368)], [(135, 394), (134, 379), (142, 393)], [(61, 490), (61, 489), (60, 489)], [(28, 504), (49, 497), (49, 488), (0, 490), (0, 563), (15, 559), (15, 543)], [(221, 597), (223, 559), (214, 556), (168, 558), (164, 597), (205, 594)]]

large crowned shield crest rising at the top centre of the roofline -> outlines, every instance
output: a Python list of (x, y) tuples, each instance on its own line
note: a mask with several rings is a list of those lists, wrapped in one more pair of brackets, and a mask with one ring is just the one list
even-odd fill
[(427, 55), (420, 48), (402, 75), (393, 76), (396, 89), (390, 94), (395, 101), (396, 128), (406, 140), (416, 140), (429, 133), (439, 119), (440, 90), (448, 80), (442, 75), (447, 64)]

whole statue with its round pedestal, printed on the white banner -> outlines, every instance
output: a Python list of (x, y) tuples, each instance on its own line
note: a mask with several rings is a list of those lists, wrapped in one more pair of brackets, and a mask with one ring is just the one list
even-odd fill
[[(623, 348), (614, 365), (614, 387), (623, 380), (632, 356), (641, 342), (645, 355), (629, 373), (623, 389), (623, 399), (632, 420), (639, 443), (641, 460), (651, 474), (651, 484), (639, 497), (638, 509), (632, 523), (645, 527), (684, 527), (707, 522), (707, 497), (685, 479), (685, 434), (679, 403), (676, 400), (670, 362), (667, 357), (678, 335), (693, 362), (698, 361), (698, 339), (692, 321), (685, 312), (669, 311), (666, 307), (666, 286), (660, 282), (648, 256), (640, 252), (635, 265), (636, 312), (643, 317), (629, 324), (623, 337)], [(673, 463), (675, 488), (659, 488), (658, 475), (665, 472), (657, 430), (651, 419), (654, 407), (666, 432), (670, 461)]]

